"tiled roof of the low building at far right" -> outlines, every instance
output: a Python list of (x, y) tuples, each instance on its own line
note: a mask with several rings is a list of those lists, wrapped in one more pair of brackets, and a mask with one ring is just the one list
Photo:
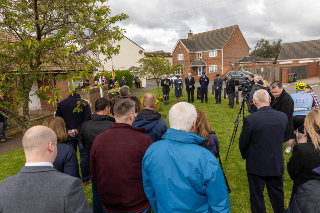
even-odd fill
[(320, 40), (285, 43), (277, 60), (292, 60), (320, 57)]

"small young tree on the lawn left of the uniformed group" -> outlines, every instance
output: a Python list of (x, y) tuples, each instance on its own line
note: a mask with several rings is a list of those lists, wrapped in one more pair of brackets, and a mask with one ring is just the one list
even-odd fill
[(170, 74), (172, 67), (170, 61), (165, 56), (144, 57), (137, 62), (140, 64), (134, 71), (139, 72), (141, 78), (155, 78), (158, 87), (158, 97), (160, 97), (159, 83), (165, 74)]

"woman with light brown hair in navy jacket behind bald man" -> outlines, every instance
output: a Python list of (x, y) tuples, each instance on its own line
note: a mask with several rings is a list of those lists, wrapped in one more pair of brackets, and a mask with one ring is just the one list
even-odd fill
[(53, 162), (56, 170), (80, 178), (79, 163), (74, 148), (63, 142), (67, 141), (66, 123), (61, 117), (51, 117), (44, 121), (42, 126), (49, 127), (57, 135), (57, 157)]

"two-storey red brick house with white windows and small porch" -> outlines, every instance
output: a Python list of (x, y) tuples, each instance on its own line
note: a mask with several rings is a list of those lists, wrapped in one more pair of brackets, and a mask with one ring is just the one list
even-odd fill
[[(201, 76), (206, 71), (210, 80), (231, 71), (239, 58), (249, 55), (249, 46), (237, 25), (204, 33), (188, 33), (187, 39), (179, 39), (172, 50), (172, 64), (182, 64), (184, 72), (176, 71), (181, 78), (188, 72)], [(198, 79), (198, 78), (196, 78)]]

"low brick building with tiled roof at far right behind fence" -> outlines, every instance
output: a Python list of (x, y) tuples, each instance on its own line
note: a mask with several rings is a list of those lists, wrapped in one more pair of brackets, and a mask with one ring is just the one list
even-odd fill
[[(277, 58), (277, 64), (283, 66), (302, 66), (306, 78), (318, 76), (320, 64), (320, 40), (284, 43)], [(302, 71), (301, 71), (302, 73)]]

